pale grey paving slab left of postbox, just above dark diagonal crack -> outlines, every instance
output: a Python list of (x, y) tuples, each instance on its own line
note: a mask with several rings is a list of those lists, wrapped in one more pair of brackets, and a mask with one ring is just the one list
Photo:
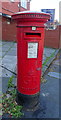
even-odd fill
[(17, 63), (16, 56), (6, 55), (2, 60), (2, 66), (14, 72)]

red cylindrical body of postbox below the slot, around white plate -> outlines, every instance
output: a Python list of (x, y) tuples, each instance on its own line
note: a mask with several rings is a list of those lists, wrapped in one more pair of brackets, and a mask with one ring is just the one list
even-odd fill
[(40, 91), (43, 42), (34, 38), (18, 40), (18, 90), (28, 95)]

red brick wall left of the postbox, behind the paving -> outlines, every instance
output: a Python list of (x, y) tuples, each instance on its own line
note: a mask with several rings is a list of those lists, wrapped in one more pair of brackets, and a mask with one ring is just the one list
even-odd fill
[(5, 17), (2, 17), (2, 40), (16, 41), (16, 23)]

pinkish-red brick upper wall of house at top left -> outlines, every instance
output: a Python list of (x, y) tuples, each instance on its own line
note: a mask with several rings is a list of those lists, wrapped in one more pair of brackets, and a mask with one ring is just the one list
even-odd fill
[[(23, 8), (22, 6), (20, 6), (20, 8), (18, 8), (19, 0), (17, 0), (17, 1), (18, 2), (14, 2), (14, 3), (9, 2), (9, 1), (2, 2), (2, 6), (1, 6), (2, 13), (12, 15), (15, 12), (30, 10), (30, 1), (27, 2), (27, 9)], [(1, 7), (0, 7), (0, 11), (1, 11)]]

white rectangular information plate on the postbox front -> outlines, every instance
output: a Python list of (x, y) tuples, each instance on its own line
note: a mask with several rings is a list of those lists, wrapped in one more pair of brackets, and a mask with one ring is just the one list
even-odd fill
[(28, 43), (28, 58), (37, 58), (38, 43)]

